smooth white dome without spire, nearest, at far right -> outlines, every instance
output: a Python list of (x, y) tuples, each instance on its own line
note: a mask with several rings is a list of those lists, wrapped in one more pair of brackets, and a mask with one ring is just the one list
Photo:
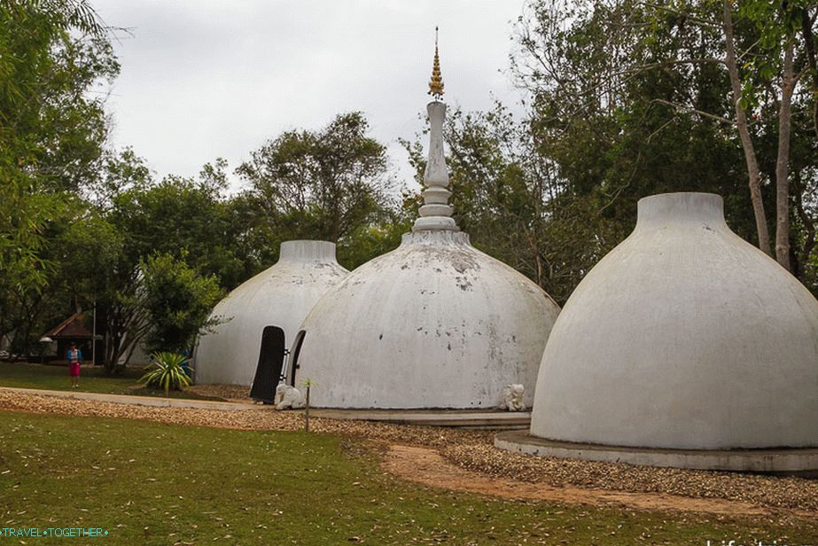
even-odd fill
[(721, 198), (639, 201), (565, 304), (531, 433), (635, 448), (818, 446), (818, 302), (729, 230)]

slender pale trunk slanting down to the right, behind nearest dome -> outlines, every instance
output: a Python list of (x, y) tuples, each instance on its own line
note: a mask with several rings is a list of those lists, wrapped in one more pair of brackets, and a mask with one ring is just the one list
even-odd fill
[(750, 176), (750, 198), (752, 199), (752, 211), (755, 214), (756, 230), (759, 234), (759, 248), (772, 256), (770, 246), (770, 235), (767, 229), (767, 214), (764, 212), (764, 199), (761, 198), (761, 175), (759, 163), (756, 159), (755, 149), (752, 146), (750, 127), (747, 123), (747, 113), (741, 105), (741, 81), (738, 78), (738, 65), (736, 64), (736, 43), (733, 37), (733, 16), (730, 12), (729, 0), (724, 0), (724, 43), (726, 57), (724, 59), (730, 75), (730, 87), (732, 88), (733, 106), (736, 109), (736, 128), (738, 136), (741, 137), (742, 148), (744, 149), (744, 160), (747, 163), (747, 174)]

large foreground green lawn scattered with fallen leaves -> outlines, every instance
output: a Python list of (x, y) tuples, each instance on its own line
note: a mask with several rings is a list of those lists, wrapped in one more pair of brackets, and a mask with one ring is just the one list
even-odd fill
[(0, 527), (109, 532), (59, 543), (818, 543), (815, 522), (779, 527), (763, 518), (516, 502), (420, 487), (381, 471), (368, 445), (316, 433), (0, 412)]

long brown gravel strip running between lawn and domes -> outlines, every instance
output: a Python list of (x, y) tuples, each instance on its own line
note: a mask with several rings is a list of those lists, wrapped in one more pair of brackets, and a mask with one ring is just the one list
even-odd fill
[[(218, 426), (245, 430), (295, 431), (303, 428), (304, 421), (300, 412), (275, 409), (221, 411), (153, 408), (8, 392), (0, 392), (0, 409), (63, 415), (127, 417), (174, 425)], [(315, 432), (439, 448), (444, 457), (466, 469), (515, 480), (545, 482), (552, 486), (575, 485), (615, 491), (723, 498), (771, 508), (818, 511), (818, 480), (525, 456), (494, 448), (492, 445), (494, 433), (459, 429), (317, 417), (310, 419), (310, 429)]]

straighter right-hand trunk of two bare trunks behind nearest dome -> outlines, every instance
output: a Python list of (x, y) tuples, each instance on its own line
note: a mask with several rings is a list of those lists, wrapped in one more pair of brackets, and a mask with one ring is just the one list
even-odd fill
[(775, 163), (775, 259), (790, 270), (790, 132), (792, 90), (795, 89), (793, 40), (784, 51), (781, 105), (778, 110), (778, 159)]

